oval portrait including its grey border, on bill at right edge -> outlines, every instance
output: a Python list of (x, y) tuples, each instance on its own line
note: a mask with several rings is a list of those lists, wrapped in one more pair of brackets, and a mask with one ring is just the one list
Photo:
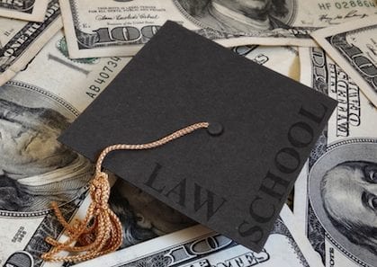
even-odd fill
[(376, 263), (377, 139), (331, 144), (310, 170), (309, 194), (328, 242), (358, 261)]

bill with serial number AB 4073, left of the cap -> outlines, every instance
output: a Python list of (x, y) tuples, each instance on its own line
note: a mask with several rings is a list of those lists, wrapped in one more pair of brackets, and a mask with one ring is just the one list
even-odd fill
[(59, 32), (25, 70), (0, 87), (1, 266), (49, 265), (40, 260), (49, 250), (44, 238), (61, 236), (63, 230), (49, 209), (51, 200), (58, 201), (67, 219), (85, 214), (77, 209), (92, 165), (56, 138), (128, 61), (71, 60)]

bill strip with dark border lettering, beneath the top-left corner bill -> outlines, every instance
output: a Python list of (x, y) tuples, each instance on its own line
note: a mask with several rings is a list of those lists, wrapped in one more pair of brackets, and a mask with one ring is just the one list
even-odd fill
[(0, 85), (26, 67), (61, 27), (58, 0), (49, 0), (43, 22), (0, 17)]

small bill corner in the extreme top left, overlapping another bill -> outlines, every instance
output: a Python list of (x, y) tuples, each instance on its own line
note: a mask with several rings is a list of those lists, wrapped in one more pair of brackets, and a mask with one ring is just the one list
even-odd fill
[(0, 0), (0, 16), (43, 22), (49, 0)]

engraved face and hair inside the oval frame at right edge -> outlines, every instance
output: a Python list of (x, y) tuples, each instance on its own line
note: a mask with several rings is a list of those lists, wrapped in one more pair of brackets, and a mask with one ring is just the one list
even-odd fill
[(332, 224), (351, 242), (377, 251), (377, 164), (341, 163), (321, 181), (323, 205)]

